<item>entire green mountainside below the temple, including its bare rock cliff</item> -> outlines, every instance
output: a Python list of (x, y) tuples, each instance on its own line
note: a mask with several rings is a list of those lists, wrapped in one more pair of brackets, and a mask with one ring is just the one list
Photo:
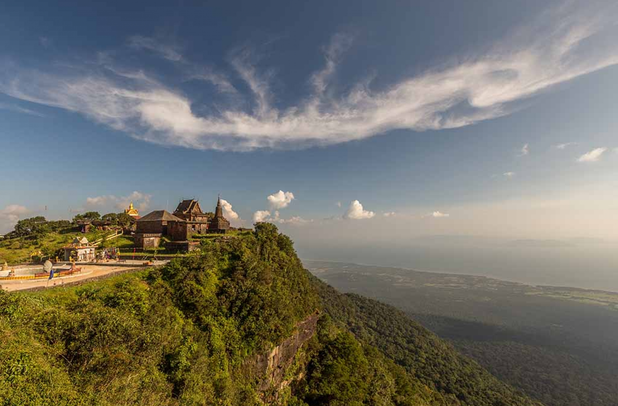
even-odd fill
[(405, 316), (311, 278), (260, 224), (159, 269), (1, 292), (0, 404), (531, 404)]

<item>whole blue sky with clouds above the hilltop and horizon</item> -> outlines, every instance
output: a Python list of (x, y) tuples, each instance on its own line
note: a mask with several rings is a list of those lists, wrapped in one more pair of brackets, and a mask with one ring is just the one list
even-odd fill
[(617, 16), (611, 1), (4, 4), (0, 232), (221, 193), (235, 223), (298, 238), (618, 238)]

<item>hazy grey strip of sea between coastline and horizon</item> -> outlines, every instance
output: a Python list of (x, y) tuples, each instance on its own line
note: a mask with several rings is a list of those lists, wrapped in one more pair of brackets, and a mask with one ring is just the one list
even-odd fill
[[(495, 240), (426, 236), (431, 241), (354, 248), (300, 244), (303, 261), (349, 262), (444, 274), (480, 275), (527, 285), (618, 292), (615, 241)], [(488, 243), (491, 240), (491, 243)], [(482, 244), (482, 245), (481, 245)]]

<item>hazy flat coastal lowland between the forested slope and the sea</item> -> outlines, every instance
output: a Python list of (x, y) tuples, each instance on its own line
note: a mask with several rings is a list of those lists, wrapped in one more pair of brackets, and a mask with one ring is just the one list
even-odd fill
[(402, 309), (544, 404), (617, 404), (616, 293), (391, 267), (310, 267), (344, 292)]

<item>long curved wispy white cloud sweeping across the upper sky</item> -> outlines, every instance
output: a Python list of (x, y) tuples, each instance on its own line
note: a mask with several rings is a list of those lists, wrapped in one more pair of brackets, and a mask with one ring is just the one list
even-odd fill
[[(618, 29), (617, 9), (612, 2), (590, 1), (548, 11), (485, 54), (464, 56), (458, 64), (381, 90), (352, 84), (343, 93), (329, 92), (329, 80), (350, 43), (349, 37), (335, 35), (325, 48), (324, 67), (309, 79), (313, 90), (297, 103), (278, 108), (269, 85), (273, 71), (258, 71), (246, 48), (232, 52), (230, 63), (250, 92), (240, 95), (238, 106), (215, 113), (199, 115), (199, 106), (187, 95), (142, 72), (118, 76), (14, 66), (2, 69), (0, 92), (75, 111), (163, 145), (243, 151), (337, 144), (393, 129), (447, 129), (497, 118), (513, 111), (517, 101), (617, 64), (618, 43), (608, 40)], [(129, 44), (171, 61), (183, 60), (176, 48), (152, 38), (132, 37)], [(213, 82), (225, 78), (206, 77)], [(229, 82), (223, 86), (233, 88)], [(239, 107), (247, 105), (253, 108)]]

